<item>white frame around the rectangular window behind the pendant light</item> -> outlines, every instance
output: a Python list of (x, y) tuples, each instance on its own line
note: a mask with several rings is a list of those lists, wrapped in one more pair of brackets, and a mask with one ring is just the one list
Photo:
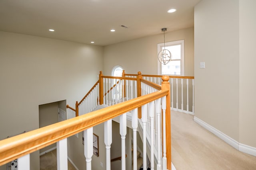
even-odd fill
[[(180, 75), (173, 75), (170, 74), (171, 76), (184, 76), (185, 73), (185, 65), (184, 65), (184, 39), (182, 40), (178, 40), (178, 41), (170, 41), (170, 42), (166, 42), (165, 46), (172, 46), (172, 45), (181, 45), (181, 59), (180, 59)], [(164, 47), (164, 43), (159, 43), (157, 44), (157, 54), (159, 53), (159, 51), (162, 50), (162, 47)], [(170, 51), (172, 53), (172, 51)], [(172, 61), (176, 61), (176, 60), (172, 60)], [(157, 72), (158, 75), (162, 75), (162, 63), (160, 63), (160, 61), (157, 59)]]

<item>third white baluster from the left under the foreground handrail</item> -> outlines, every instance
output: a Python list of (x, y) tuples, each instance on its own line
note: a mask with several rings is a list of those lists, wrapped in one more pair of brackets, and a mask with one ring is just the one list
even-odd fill
[(93, 154), (93, 128), (84, 131), (84, 156), (86, 158), (86, 170), (92, 170)]

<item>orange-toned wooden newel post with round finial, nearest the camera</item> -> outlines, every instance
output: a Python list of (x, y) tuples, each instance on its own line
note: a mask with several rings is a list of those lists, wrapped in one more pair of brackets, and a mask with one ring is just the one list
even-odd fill
[(172, 169), (171, 161), (171, 105), (170, 105), (170, 82), (169, 76), (162, 76), (162, 90), (168, 90), (166, 96), (166, 158), (167, 158), (167, 169)]

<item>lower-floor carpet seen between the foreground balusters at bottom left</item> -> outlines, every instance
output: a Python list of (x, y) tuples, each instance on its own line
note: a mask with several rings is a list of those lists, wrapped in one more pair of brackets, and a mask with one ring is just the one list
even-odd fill
[[(57, 153), (56, 149), (40, 156), (40, 170), (57, 170)], [(68, 160), (68, 170), (76, 168)]]

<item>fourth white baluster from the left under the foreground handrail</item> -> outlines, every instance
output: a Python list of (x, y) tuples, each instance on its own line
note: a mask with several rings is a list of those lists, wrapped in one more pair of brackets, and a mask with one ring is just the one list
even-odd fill
[(106, 145), (106, 170), (111, 170), (110, 148), (112, 144), (112, 119), (104, 122), (104, 143)]

